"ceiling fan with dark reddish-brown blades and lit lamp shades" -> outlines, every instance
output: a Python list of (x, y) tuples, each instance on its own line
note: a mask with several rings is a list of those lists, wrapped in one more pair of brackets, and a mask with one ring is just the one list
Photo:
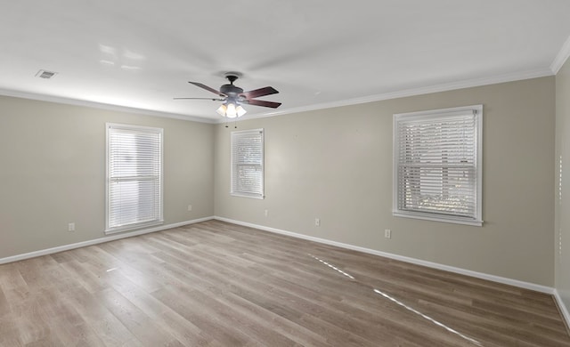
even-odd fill
[(279, 93), (272, 86), (266, 86), (259, 89), (254, 89), (252, 91), (244, 92), (237, 85), (233, 85), (239, 77), (241, 76), (238, 72), (227, 72), (224, 77), (230, 81), (229, 85), (222, 85), (219, 91), (209, 87), (208, 85), (203, 85), (199, 82), (188, 82), (192, 85), (199, 86), (202, 89), (206, 89), (208, 92), (215, 93), (218, 98), (175, 98), (175, 100), (181, 99), (193, 99), (193, 100), (211, 100), (211, 101), (224, 101), (222, 106), (220, 106), (216, 112), (223, 117), (236, 118), (241, 117), (246, 114), (246, 110), (241, 106), (241, 104), (261, 106), (265, 108), (277, 109), (281, 106), (281, 102), (273, 101), (263, 101), (256, 100), (255, 98), (260, 98), (265, 95), (271, 95)]

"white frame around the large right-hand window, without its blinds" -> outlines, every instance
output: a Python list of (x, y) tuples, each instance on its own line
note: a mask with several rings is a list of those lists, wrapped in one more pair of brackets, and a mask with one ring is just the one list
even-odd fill
[[(473, 180), (473, 201), (474, 208), (473, 213), (469, 215), (454, 215), (450, 212), (444, 213), (437, 213), (434, 211), (426, 211), (426, 210), (419, 210), (419, 208), (412, 207), (405, 207), (404, 205), (404, 198), (403, 194), (410, 193), (409, 190), (406, 190), (403, 184), (403, 177), (400, 177), (400, 167), (403, 166), (403, 159), (400, 159), (400, 141), (399, 139), (399, 129), (404, 124), (408, 123), (433, 123), (438, 121), (445, 121), (452, 120), (453, 117), (457, 119), (457, 117), (464, 117), (465, 115), (473, 115), (474, 119), (474, 126), (475, 126), (475, 134), (474, 134), (474, 144), (471, 150), (474, 151), (473, 155), (473, 162), (475, 165), (474, 174), (475, 178)], [(393, 124), (393, 150), (394, 150), (394, 173), (393, 173), (393, 215), (398, 217), (407, 217), (407, 218), (417, 218), (429, 221), (436, 221), (436, 222), (452, 222), (452, 223), (459, 223), (459, 224), (468, 224), (474, 226), (482, 226), (483, 225), (483, 218), (482, 218), (482, 191), (483, 191), (483, 105), (473, 105), (473, 106), (465, 106), (459, 108), (452, 108), (452, 109), (433, 109), (428, 111), (419, 111), (419, 112), (411, 112), (411, 113), (400, 113), (394, 115), (394, 124)], [(441, 166), (442, 169), (444, 167), (452, 167), (450, 166)], [(470, 184), (469, 184), (470, 185)]]

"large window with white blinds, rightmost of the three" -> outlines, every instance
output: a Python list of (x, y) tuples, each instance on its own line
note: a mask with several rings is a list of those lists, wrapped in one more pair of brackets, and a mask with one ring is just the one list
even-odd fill
[(483, 105), (394, 115), (394, 215), (481, 226)]

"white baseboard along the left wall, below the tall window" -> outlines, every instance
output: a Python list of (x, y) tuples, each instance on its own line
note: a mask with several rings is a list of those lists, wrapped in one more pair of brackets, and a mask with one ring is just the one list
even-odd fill
[(97, 245), (97, 244), (102, 244), (103, 242), (114, 241), (114, 240), (119, 239), (119, 238), (131, 238), (131, 237), (138, 236), (138, 235), (149, 234), (149, 233), (155, 232), (155, 231), (167, 230), (167, 229), (172, 229), (172, 228), (179, 228), (179, 227), (183, 227), (184, 225), (194, 224), (194, 223), (198, 223), (198, 222), (206, 222), (206, 221), (209, 221), (212, 219), (214, 219), (214, 217), (205, 217), (205, 218), (199, 218), (199, 219), (186, 221), (186, 222), (177, 222), (177, 223), (173, 223), (173, 224), (160, 225), (159, 227), (155, 227), (155, 228), (144, 229), (144, 230), (135, 230), (135, 231), (131, 231), (131, 232), (124, 232), (124, 233), (120, 233), (120, 234), (114, 234), (112, 236), (106, 236), (104, 238), (95, 238), (95, 239), (91, 239), (88, 241), (77, 242), (75, 244), (70, 244), (70, 245), (65, 245), (65, 246), (57, 246), (57, 247), (53, 247), (53, 248), (42, 249), (42, 250), (35, 251), (35, 252), (8, 256), (5, 258), (0, 258), (0, 264), (4, 264), (7, 262), (19, 262), (20, 260), (35, 258), (37, 256), (60, 253), (63, 251), (69, 251), (69, 249), (75, 249), (75, 248), (80, 248), (80, 247), (85, 247), (85, 246), (93, 246), (93, 245)]

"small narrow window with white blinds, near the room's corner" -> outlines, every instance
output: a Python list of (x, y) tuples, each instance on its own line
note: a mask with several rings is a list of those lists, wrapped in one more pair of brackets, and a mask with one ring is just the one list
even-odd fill
[(264, 198), (264, 129), (232, 132), (231, 157), (230, 194)]

